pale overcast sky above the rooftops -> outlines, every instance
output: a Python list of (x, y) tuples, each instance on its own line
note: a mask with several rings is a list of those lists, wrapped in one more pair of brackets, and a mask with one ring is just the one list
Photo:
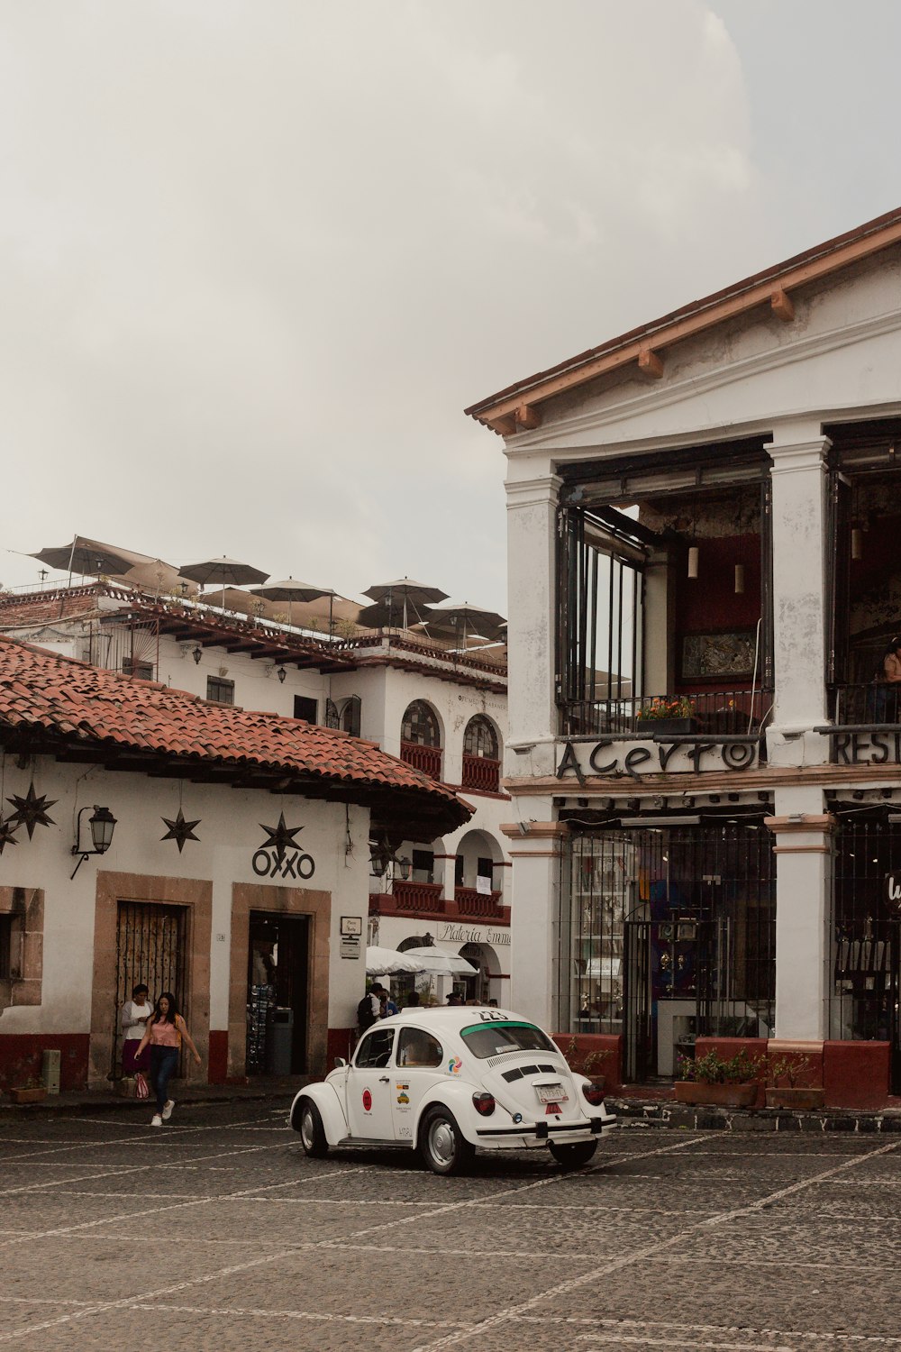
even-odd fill
[(0, 0), (0, 579), (507, 614), (462, 408), (901, 201), (893, 0)]

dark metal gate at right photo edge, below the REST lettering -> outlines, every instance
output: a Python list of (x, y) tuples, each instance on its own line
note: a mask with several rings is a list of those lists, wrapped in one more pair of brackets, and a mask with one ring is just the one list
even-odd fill
[(901, 880), (901, 822), (887, 807), (836, 815), (829, 1037), (889, 1042), (901, 1094), (901, 914), (887, 887)]

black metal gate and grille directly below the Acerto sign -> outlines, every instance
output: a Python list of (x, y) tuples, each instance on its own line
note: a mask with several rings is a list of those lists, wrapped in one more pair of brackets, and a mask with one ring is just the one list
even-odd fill
[(621, 1033), (629, 1082), (671, 1078), (697, 1036), (770, 1036), (775, 869), (762, 815), (586, 830), (563, 877), (559, 1026)]

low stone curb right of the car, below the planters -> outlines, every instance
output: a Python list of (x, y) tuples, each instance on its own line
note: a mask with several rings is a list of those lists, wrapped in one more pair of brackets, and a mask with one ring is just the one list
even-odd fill
[(684, 1132), (869, 1132), (901, 1133), (901, 1110), (820, 1109), (810, 1113), (788, 1109), (724, 1109), (689, 1106), (659, 1099), (608, 1098), (607, 1106), (623, 1126), (655, 1126)]

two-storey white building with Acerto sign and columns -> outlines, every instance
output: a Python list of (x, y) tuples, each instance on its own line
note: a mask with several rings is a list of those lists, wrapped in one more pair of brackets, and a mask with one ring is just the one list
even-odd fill
[(901, 1090), (900, 241), (467, 410), (508, 462), (512, 999), (632, 1083), (719, 1038)]

